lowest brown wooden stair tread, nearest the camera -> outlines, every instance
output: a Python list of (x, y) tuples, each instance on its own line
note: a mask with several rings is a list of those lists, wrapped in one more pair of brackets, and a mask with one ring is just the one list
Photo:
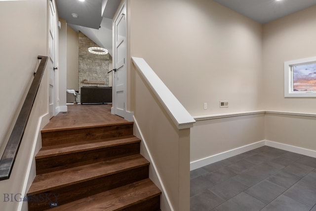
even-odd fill
[(148, 178), (87, 198), (79, 199), (53, 209), (54, 211), (119, 211), (130, 205), (144, 202), (161, 194), (158, 187)]

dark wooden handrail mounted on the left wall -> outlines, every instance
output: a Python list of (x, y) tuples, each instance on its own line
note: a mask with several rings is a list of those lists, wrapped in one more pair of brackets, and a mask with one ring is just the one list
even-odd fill
[(19, 116), (10, 135), (9, 141), (6, 144), (0, 160), (0, 180), (8, 179), (10, 177), (13, 164), (23, 138), (23, 134), (31, 114), (35, 97), (40, 87), (40, 81), (43, 76), (48, 57), (38, 56), (38, 59), (40, 59), (40, 65), (38, 67), (38, 70), (36, 71), (36, 74), (34, 75), (31, 87), (25, 98)]

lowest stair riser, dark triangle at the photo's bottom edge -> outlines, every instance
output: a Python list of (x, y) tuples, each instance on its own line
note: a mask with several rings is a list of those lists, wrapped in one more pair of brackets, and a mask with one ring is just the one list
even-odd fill
[(160, 211), (160, 195), (144, 202), (116, 211)]

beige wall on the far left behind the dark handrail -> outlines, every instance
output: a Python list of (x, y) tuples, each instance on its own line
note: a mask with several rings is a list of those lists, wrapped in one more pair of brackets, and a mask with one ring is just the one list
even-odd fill
[[(22, 106), (39, 61), (47, 55), (47, 1), (0, 1), (0, 142), (5, 146), (8, 134)], [(22, 50), (19, 50), (22, 49)], [(36, 140), (40, 116), (48, 112), (47, 72), (45, 71), (33, 111), (8, 180), (0, 181), (0, 195), (22, 193), (28, 177), (28, 162)], [(22, 150), (21, 150), (22, 149)], [(1, 150), (2, 152), (2, 150)], [(1, 210), (17, 210), (18, 203), (0, 200)]]

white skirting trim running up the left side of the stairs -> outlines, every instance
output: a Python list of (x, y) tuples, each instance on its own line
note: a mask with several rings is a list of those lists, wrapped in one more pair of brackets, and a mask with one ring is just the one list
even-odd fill
[[(34, 137), (34, 140), (33, 140), (31, 157), (30, 157), (31, 159), (27, 163), (28, 167), (27, 167), (26, 176), (24, 177), (23, 188), (22, 188), (22, 193), (21, 193), (22, 196), (21, 197), (25, 197), (26, 193), (27, 193), (28, 182), (29, 182), (29, 178), (30, 178), (30, 175), (31, 175), (32, 164), (33, 164), (34, 157), (35, 157), (35, 149), (36, 149), (38, 140), (40, 138), (40, 130), (48, 122), (49, 122), (49, 113), (46, 113), (46, 114), (40, 116), (39, 122), (38, 122), (38, 126), (36, 128), (35, 137)], [(41, 138), (40, 138), (40, 140), (41, 140)], [(35, 170), (35, 166), (34, 166), (34, 170)], [(33, 179), (32, 179), (32, 181), (33, 181)], [(32, 181), (30, 181), (30, 182), (32, 182)], [(20, 202), (19, 206), (18, 206), (18, 211), (27, 211), (27, 210), (28, 210), (28, 203), (27, 202), (23, 202), (23, 201)]]

